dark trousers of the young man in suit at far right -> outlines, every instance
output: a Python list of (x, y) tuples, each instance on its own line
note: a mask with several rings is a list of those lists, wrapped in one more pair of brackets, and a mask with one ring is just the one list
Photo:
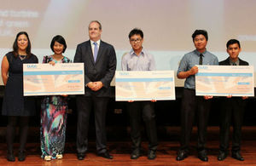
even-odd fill
[(244, 114), (245, 100), (238, 97), (222, 99), (220, 116), (220, 145), (222, 152), (229, 149), (230, 124), (233, 120), (232, 152), (240, 151), (241, 146), (241, 125)]

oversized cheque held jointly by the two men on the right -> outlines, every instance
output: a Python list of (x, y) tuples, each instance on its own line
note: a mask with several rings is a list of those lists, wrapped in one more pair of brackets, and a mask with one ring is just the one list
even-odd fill
[(196, 95), (254, 96), (253, 66), (198, 66)]

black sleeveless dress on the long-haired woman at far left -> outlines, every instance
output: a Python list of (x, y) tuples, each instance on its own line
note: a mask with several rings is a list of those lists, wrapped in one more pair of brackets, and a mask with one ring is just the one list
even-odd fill
[(34, 97), (23, 96), (23, 64), (38, 63), (36, 55), (20, 60), (15, 54), (6, 54), (9, 61), (9, 77), (3, 96), (2, 114), (5, 116), (32, 116), (36, 113)]

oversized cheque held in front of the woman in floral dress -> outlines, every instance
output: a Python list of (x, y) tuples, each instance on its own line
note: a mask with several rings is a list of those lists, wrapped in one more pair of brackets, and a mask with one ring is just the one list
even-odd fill
[(24, 64), (24, 95), (84, 94), (84, 63)]

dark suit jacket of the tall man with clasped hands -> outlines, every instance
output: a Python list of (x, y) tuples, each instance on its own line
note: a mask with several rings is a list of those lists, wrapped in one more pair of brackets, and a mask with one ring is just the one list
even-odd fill
[(116, 55), (112, 45), (102, 42), (101, 40), (95, 62), (90, 46), (90, 40), (80, 43), (77, 47), (73, 62), (84, 63), (84, 85), (96, 81), (101, 81), (103, 83), (102, 89), (99, 89), (96, 92), (85, 87), (85, 96), (110, 96), (110, 83), (116, 69)]

